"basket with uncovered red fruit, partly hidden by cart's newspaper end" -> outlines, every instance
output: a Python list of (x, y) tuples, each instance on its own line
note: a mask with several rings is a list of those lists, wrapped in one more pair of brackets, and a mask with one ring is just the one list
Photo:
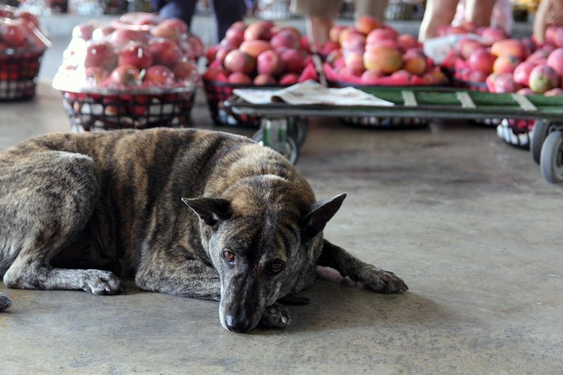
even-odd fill
[(235, 115), (224, 109), (234, 89), (283, 88), (305, 80), (318, 80), (312, 56), (294, 27), (269, 21), (229, 27), (220, 44), (205, 53), (208, 69), (203, 85), (215, 125), (258, 127), (260, 119)]

